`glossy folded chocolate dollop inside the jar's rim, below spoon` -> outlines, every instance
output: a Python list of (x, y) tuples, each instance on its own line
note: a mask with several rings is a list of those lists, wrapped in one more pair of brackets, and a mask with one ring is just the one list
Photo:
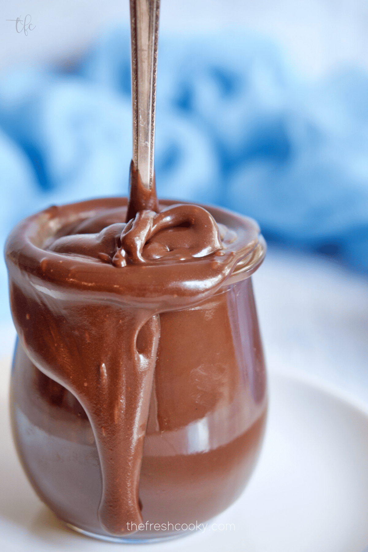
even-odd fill
[[(94, 222), (90, 221), (92, 227)], [(79, 233), (83, 230), (88, 226), (58, 238), (48, 249), (93, 257), (121, 268), (167, 257), (186, 261), (224, 248), (214, 217), (197, 205), (174, 205), (158, 214), (139, 211), (127, 224), (111, 224), (98, 234)]]

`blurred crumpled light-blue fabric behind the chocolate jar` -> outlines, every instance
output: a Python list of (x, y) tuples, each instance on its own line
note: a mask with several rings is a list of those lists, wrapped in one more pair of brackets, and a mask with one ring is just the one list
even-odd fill
[[(303, 81), (275, 44), (243, 34), (159, 44), (159, 197), (254, 217), (269, 241), (368, 272), (368, 75)], [(129, 30), (70, 72), (0, 76), (0, 238), (50, 204), (126, 195)], [(10, 318), (1, 264), (0, 321)]]

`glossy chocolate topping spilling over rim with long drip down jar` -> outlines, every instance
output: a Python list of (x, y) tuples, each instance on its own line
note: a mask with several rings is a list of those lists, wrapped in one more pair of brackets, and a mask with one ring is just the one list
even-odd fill
[(23, 221), (6, 246), (18, 335), (32, 362), (87, 412), (102, 470), (99, 519), (113, 535), (142, 521), (159, 313), (214, 294), (259, 244), (253, 221), (239, 217), (235, 233), (195, 205), (125, 220), (126, 200), (53, 207)]

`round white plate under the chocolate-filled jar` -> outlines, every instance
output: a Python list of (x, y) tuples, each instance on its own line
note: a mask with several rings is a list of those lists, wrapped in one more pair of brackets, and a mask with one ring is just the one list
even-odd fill
[(368, 544), (368, 410), (281, 374), (270, 376), (270, 397), (262, 457), (241, 498), (205, 532), (145, 545), (99, 542), (62, 527), (23, 475), (3, 400), (0, 549), (362, 552)]

